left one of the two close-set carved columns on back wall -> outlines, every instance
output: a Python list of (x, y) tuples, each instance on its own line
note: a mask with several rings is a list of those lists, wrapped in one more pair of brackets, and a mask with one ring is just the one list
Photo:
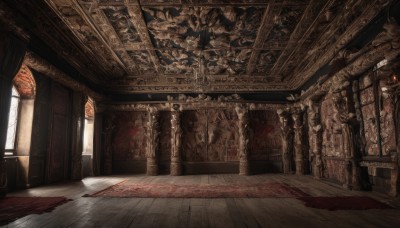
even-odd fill
[(159, 135), (159, 111), (155, 107), (148, 108), (149, 121), (147, 123), (147, 175), (155, 176), (158, 174), (157, 147)]

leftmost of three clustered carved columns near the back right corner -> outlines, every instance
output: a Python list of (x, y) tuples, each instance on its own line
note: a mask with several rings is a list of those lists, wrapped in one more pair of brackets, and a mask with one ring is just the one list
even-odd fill
[(293, 126), (289, 110), (278, 110), (282, 130), (282, 165), (283, 173), (293, 172)]

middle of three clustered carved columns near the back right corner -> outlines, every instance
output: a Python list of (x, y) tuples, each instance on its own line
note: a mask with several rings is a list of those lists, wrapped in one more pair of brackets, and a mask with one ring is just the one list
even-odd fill
[(296, 174), (304, 174), (303, 154), (303, 110), (296, 108), (292, 114), (294, 128), (294, 155), (296, 162)]

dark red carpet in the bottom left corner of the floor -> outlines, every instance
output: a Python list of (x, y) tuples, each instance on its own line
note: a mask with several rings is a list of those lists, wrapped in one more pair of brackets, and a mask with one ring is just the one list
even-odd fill
[(0, 198), (0, 226), (29, 214), (50, 212), (66, 203), (65, 197), (6, 197)]

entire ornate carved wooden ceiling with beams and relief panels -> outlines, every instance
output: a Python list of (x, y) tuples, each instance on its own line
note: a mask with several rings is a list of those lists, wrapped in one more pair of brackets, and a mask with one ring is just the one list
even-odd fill
[[(51, 8), (36, 12), (36, 30), (103, 91), (240, 93), (297, 90), (388, 1), (45, 0), (23, 5)], [(64, 37), (51, 37), (52, 31)]]

